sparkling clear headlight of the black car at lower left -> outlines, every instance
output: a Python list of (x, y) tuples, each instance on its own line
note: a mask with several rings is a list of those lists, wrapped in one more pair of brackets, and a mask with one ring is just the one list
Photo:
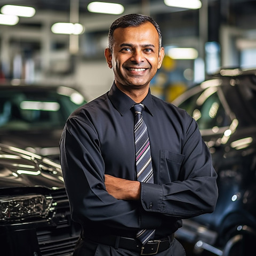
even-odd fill
[(0, 221), (13, 221), (28, 217), (46, 217), (52, 205), (52, 197), (43, 195), (0, 198)]

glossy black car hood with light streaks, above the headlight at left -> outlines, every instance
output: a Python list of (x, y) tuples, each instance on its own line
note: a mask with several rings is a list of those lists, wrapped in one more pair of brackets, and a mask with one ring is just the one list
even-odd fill
[(64, 188), (60, 165), (49, 158), (0, 144), (0, 188)]

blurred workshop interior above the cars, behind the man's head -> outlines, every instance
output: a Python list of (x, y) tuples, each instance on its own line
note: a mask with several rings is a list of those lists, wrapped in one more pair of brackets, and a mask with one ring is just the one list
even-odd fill
[(109, 26), (129, 13), (161, 27), (166, 55), (151, 82), (159, 98), (172, 101), (220, 67), (256, 66), (255, 0), (110, 2), (0, 0), (1, 81), (59, 83), (79, 87), (87, 101), (98, 97), (114, 78), (104, 57)]

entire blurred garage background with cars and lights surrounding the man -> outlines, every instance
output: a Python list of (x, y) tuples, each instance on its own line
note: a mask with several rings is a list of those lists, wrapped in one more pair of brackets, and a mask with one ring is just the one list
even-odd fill
[(72, 255), (81, 228), (59, 141), (70, 113), (110, 89), (108, 29), (129, 13), (159, 24), (165, 57), (151, 93), (195, 118), (218, 173), (215, 211), (175, 236), (188, 256), (254, 255), (256, 0), (0, 0), (1, 255)]

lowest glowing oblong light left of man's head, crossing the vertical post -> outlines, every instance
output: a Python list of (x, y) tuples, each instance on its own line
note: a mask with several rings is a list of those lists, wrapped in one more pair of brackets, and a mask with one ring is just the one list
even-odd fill
[(58, 22), (51, 29), (54, 34), (80, 35), (84, 32), (84, 26), (79, 23)]

